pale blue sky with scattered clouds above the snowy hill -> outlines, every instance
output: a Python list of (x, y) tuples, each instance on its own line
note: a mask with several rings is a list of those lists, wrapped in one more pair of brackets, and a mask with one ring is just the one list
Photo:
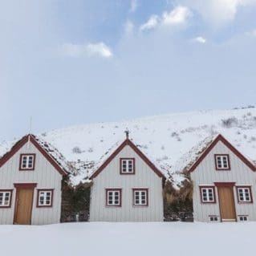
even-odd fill
[(0, 140), (254, 105), (256, 0), (0, 3)]

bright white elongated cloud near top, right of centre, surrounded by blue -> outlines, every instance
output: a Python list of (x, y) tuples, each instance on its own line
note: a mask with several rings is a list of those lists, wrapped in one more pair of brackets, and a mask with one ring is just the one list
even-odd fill
[(161, 17), (153, 14), (147, 22), (140, 26), (140, 30), (152, 30), (158, 25), (178, 26), (185, 25), (192, 16), (192, 11), (186, 6), (177, 6), (170, 12), (164, 12)]

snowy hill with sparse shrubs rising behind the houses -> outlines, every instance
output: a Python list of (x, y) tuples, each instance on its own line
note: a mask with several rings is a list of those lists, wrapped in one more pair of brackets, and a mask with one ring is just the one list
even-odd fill
[[(238, 150), (256, 160), (256, 108), (176, 113), (149, 116), (113, 123), (83, 124), (43, 132), (43, 140), (59, 149), (71, 161), (78, 183), (89, 175), (113, 144), (130, 137), (166, 175), (172, 173), (178, 184), (182, 177), (175, 174), (177, 163), (186, 152), (207, 136), (221, 133)], [(0, 154), (10, 148), (10, 142), (0, 144)], [(175, 167), (176, 166), (176, 167)], [(171, 168), (172, 167), (172, 168)]]

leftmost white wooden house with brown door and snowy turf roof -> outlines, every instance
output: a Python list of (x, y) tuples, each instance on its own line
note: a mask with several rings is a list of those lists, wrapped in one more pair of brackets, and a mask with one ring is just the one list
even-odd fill
[(67, 165), (43, 140), (26, 135), (0, 159), (0, 224), (58, 223)]

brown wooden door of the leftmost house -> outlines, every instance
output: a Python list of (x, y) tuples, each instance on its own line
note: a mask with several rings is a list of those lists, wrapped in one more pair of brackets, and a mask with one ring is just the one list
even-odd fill
[(17, 189), (14, 224), (30, 225), (34, 189)]

